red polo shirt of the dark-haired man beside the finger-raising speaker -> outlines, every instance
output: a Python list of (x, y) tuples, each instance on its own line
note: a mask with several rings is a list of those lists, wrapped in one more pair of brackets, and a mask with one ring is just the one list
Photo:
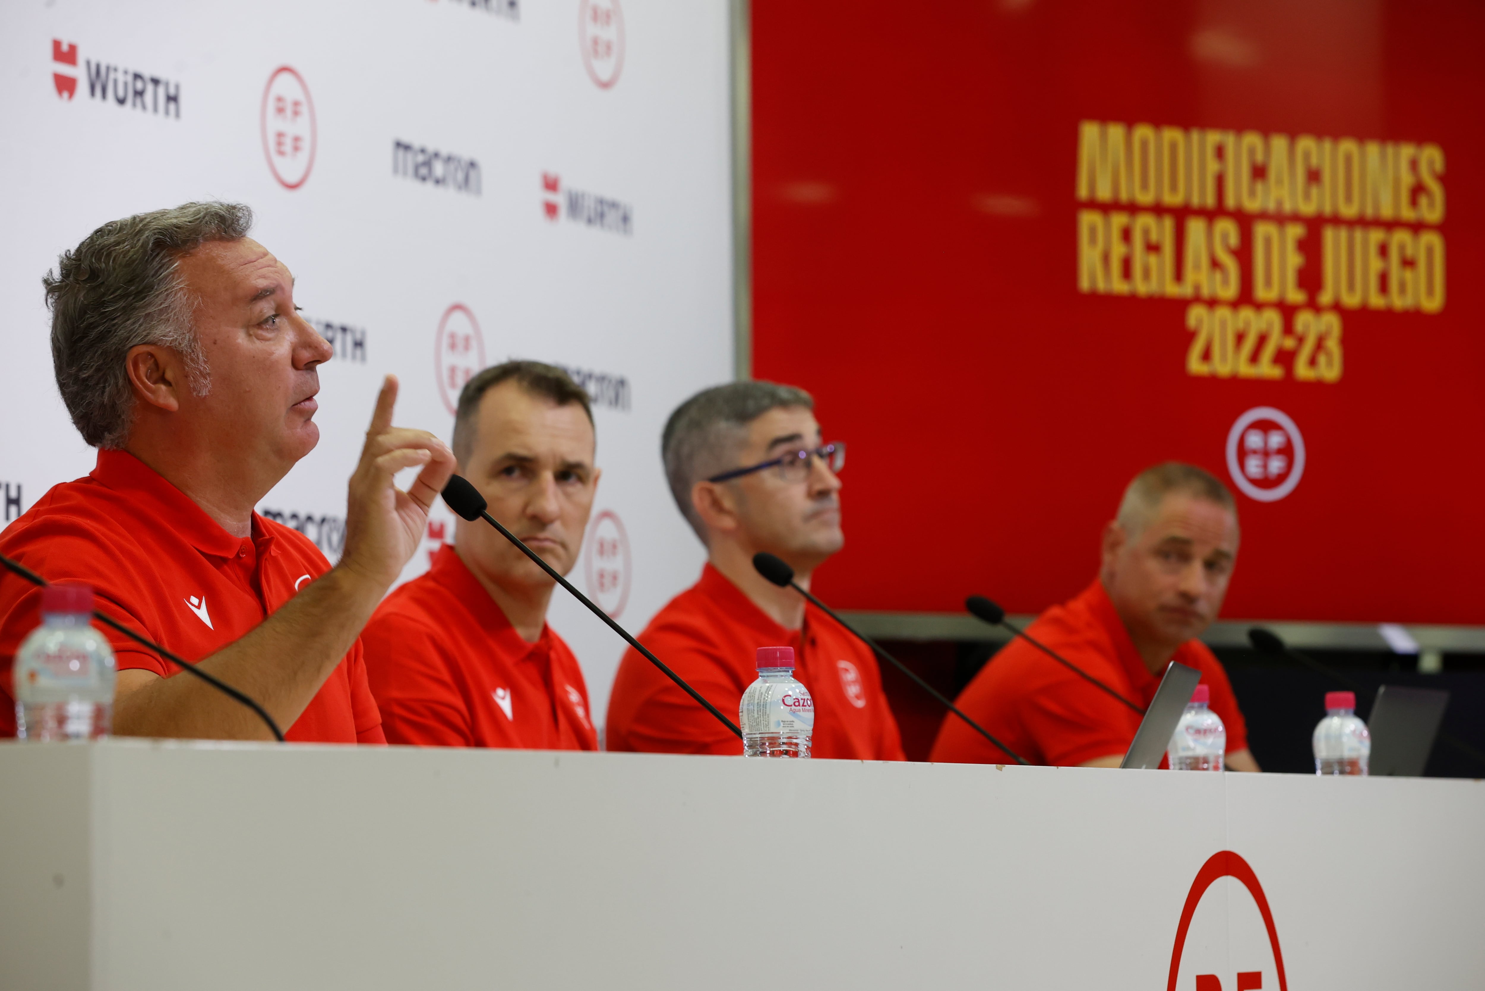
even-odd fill
[(361, 641), (392, 743), (598, 749), (572, 650), (546, 625), (521, 639), (450, 546), (382, 602)]

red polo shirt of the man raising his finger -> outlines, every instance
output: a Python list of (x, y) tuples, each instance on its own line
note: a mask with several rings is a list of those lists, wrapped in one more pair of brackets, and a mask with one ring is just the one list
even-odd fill
[[(98, 451), (86, 478), (53, 485), (0, 533), (0, 553), (49, 582), (86, 582), (97, 608), (196, 662), (241, 639), (269, 613), (330, 570), (304, 534), (252, 513), (252, 536), (233, 537), (126, 451)], [(10, 671), (40, 626), (42, 590), (0, 573), (0, 734), (15, 736)], [(171, 678), (180, 669), (111, 629), (120, 671)], [(336, 666), (285, 737), (300, 743), (382, 743), (359, 641)]]

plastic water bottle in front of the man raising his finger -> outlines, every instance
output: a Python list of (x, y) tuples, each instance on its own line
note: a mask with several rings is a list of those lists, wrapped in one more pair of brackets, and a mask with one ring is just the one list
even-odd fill
[(15, 728), (25, 740), (108, 736), (113, 648), (92, 628), (92, 589), (42, 589), (42, 625), (15, 656)]

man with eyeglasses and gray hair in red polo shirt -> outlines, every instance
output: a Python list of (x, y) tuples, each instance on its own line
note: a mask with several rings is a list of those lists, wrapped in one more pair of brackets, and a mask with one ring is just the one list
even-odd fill
[[(726, 714), (757, 678), (757, 648), (793, 647), (794, 676), (815, 702), (812, 755), (903, 760), (872, 651), (753, 568), (753, 555), (766, 550), (809, 587), (814, 570), (845, 543), (845, 445), (823, 442), (809, 393), (763, 381), (707, 389), (671, 414), (661, 452), (707, 564), (640, 642)], [(742, 752), (737, 736), (633, 650), (613, 681), (606, 736), (610, 751)]]

